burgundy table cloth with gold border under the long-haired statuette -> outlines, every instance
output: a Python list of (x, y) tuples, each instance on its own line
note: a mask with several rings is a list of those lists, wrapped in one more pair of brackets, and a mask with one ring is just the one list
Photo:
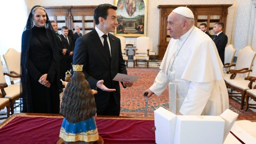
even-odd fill
[[(0, 126), (1, 144), (56, 144), (63, 117), (15, 114)], [(154, 119), (98, 117), (105, 144), (155, 144)]]

